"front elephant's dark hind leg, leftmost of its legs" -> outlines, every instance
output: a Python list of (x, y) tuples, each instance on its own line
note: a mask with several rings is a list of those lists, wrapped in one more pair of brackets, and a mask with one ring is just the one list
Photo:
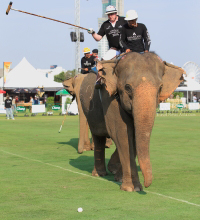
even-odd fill
[(94, 140), (94, 170), (92, 171), (93, 176), (105, 176), (106, 165), (105, 165), (105, 143), (106, 137), (99, 137), (92, 135)]

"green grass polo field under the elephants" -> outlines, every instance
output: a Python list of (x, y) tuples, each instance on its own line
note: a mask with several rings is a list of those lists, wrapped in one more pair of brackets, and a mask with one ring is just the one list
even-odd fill
[(77, 153), (78, 117), (67, 116), (58, 133), (63, 118), (0, 115), (1, 220), (200, 219), (199, 114), (156, 117), (154, 180), (140, 193), (121, 191), (110, 173), (92, 177), (93, 152)]

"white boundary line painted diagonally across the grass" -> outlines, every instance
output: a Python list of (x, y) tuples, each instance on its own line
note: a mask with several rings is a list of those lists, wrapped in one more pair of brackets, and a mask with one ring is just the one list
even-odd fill
[[(10, 155), (13, 155), (13, 156), (21, 157), (21, 158), (26, 159), (26, 160), (31, 160), (31, 161), (34, 161), (34, 162), (38, 162), (38, 163), (41, 163), (41, 164), (48, 165), (48, 166), (56, 167), (56, 168), (59, 168), (59, 169), (61, 169), (61, 170), (69, 171), (69, 172), (71, 172), (71, 173), (80, 174), (80, 175), (82, 175), (82, 176), (87, 176), (87, 177), (90, 177), (90, 178), (93, 178), (93, 179), (96, 179), (96, 180), (101, 180), (101, 181), (106, 181), (106, 182), (108, 182), (108, 180), (105, 180), (105, 179), (103, 179), (103, 178), (97, 178), (97, 177), (90, 176), (90, 175), (87, 175), (87, 174), (84, 174), (84, 173), (79, 173), (79, 172), (76, 172), (76, 171), (73, 171), (73, 170), (69, 170), (69, 169), (66, 169), (66, 168), (63, 168), (63, 167), (60, 167), (60, 166), (56, 166), (56, 165), (53, 165), (53, 164), (50, 164), (50, 163), (45, 163), (45, 162), (42, 162), (42, 161), (40, 161), (40, 160), (35, 160), (35, 159), (28, 158), (28, 157), (23, 157), (23, 156), (18, 155), (18, 154), (13, 154), (13, 153), (10, 153), (10, 152), (4, 151), (4, 150), (0, 150), (0, 151), (3, 152), (3, 153), (6, 153), (6, 154), (10, 154)], [(114, 182), (114, 181), (109, 181), (109, 182)], [(188, 201), (186, 201), (186, 200), (176, 199), (176, 198), (173, 198), (173, 197), (171, 197), (171, 196), (165, 196), (165, 195), (162, 195), (162, 194), (160, 194), (160, 193), (151, 192), (151, 191), (148, 191), (148, 190), (145, 190), (145, 191), (148, 192), (148, 193), (154, 194), (154, 195), (162, 196), (162, 197), (164, 197), (164, 198), (168, 198), (168, 199), (176, 200), (176, 201), (178, 201), (178, 202), (186, 203), (186, 204), (188, 204), (188, 205), (193, 205), (193, 206), (200, 207), (199, 204), (195, 204), (195, 203), (192, 203), (192, 202), (188, 202)]]

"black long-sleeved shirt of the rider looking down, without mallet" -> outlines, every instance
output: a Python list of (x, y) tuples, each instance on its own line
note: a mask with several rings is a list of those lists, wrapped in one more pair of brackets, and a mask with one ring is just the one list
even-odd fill
[(137, 27), (130, 27), (128, 24), (123, 26), (120, 36), (120, 46), (124, 50), (130, 49), (133, 52), (149, 51), (150, 44), (150, 36), (144, 24), (138, 23)]

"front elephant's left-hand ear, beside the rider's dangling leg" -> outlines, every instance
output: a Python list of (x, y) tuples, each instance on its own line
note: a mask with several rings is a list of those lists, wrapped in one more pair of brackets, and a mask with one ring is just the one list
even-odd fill
[(105, 89), (110, 96), (117, 92), (117, 76), (114, 73), (115, 66), (115, 61), (99, 61), (97, 63), (98, 74), (103, 78)]

